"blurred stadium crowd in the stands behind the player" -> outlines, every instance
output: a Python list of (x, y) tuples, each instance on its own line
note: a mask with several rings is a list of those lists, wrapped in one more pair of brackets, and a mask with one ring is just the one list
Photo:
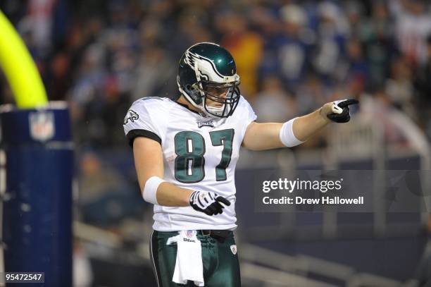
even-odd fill
[[(177, 97), (177, 61), (203, 41), (235, 56), (259, 121), (285, 121), (334, 97), (369, 97), (431, 136), (427, 1), (3, 2), (49, 99), (70, 103), (81, 145), (126, 148), (127, 107)], [(4, 80), (0, 94), (12, 102)]]

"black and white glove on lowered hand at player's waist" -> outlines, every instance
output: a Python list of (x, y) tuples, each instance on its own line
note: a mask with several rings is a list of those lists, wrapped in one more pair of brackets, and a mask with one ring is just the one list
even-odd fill
[[(208, 215), (221, 214), (223, 208), (225, 208), (221, 203), (230, 205), (229, 200), (225, 199), (216, 193), (195, 191), (190, 195), (189, 198), (190, 206), (198, 212), (204, 212)], [(220, 203), (221, 202), (221, 203)]]

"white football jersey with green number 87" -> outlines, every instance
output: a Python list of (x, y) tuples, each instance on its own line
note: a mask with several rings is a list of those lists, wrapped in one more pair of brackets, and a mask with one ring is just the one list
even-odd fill
[(192, 207), (154, 205), (154, 230), (230, 229), (235, 216), (235, 166), (249, 123), (256, 119), (241, 96), (227, 118), (210, 118), (168, 98), (144, 97), (132, 104), (124, 121), (130, 144), (144, 136), (161, 143), (164, 180), (181, 188), (212, 191), (230, 201), (222, 214), (208, 216)]

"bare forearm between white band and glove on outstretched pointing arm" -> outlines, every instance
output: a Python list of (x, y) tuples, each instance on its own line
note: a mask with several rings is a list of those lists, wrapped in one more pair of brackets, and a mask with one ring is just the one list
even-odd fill
[(311, 114), (296, 118), (293, 122), (293, 133), (298, 140), (304, 142), (328, 123), (330, 120), (322, 116), (318, 109)]

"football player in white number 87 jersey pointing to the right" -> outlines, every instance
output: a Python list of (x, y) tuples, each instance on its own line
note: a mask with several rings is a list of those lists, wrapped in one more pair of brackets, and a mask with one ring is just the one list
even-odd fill
[(177, 247), (166, 243), (179, 231), (196, 231), (205, 286), (241, 286), (232, 233), (237, 227), (239, 148), (299, 145), (330, 121), (349, 121), (349, 104), (357, 101), (327, 103), (286, 123), (256, 123), (256, 114), (239, 92), (232, 55), (207, 42), (185, 51), (177, 85), (177, 101), (144, 97), (132, 104), (124, 121), (142, 195), (154, 204), (151, 258), (156, 281), (158, 286), (178, 286), (173, 282)]

